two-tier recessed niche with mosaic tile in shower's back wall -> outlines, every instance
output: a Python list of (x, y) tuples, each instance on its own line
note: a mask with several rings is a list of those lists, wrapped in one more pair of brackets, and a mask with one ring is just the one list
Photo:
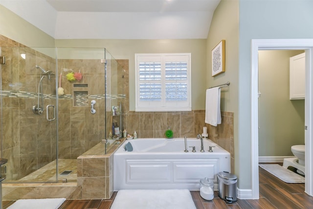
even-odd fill
[(74, 107), (88, 106), (88, 84), (73, 84)]

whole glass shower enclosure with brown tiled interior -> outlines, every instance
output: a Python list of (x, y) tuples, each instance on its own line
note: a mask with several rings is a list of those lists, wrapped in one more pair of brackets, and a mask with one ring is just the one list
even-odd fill
[(0, 55), (3, 183), (76, 182), (76, 158), (109, 139), (122, 68), (105, 48), (2, 46)]

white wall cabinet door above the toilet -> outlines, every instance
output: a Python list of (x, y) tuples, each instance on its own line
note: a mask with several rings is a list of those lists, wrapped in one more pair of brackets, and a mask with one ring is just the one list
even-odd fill
[(290, 58), (290, 99), (305, 98), (305, 53)]

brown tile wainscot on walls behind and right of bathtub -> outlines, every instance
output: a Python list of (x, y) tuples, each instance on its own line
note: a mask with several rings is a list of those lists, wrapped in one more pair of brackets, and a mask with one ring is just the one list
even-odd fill
[[(231, 172), (234, 172), (234, 117), (232, 112), (222, 112), (222, 124), (217, 127), (204, 123), (205, 110), (190, 112), (134, 112), (126, 113), (128, 133), (137, 132), (138, 138), (164, 138), (168, 127), (174, 138), (195, 138), (207, 127), (208, 138), (230, 153)], [(208, 148), (207, 148), (208, 149)]]

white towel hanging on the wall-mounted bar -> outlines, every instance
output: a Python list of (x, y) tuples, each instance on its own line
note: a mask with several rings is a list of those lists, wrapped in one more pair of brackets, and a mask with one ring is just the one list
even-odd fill
[(221, 89), (215, 87), (206, 90), (205, 94), (205, 123), (217, 126), (221, 124)]

